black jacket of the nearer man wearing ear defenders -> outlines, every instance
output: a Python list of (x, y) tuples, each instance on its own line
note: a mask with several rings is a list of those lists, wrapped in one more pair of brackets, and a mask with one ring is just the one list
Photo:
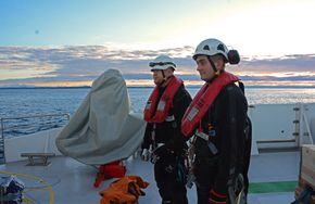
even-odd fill
[(227, 194), (227, 184), (243, 168), (247, 111), (248, 102), (242, 90), (235, 84), (226, 86), (201, 122), (210, 143), (200, 137), (196, 139), (197, 168), (211, 166), (206, 168), (211, 170), (197, 174), (198, 180), (222, 194)]

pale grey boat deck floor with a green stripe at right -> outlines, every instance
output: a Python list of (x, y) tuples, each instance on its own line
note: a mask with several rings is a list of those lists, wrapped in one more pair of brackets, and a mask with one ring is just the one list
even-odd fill
[[(111, 180), (105, 180), (96, 189), (93, 182), (97, 169), (73, 158), (55, 156), (49, 158), (49, 166), (26, 166), (27, 161), (0, 166), (1, 174), (21, 174), (17, 177), (25, 183), (25, 196), (36, 204), (48, 203), (99, 203), (99, 191), (105, 189)], [(140, 196), (140, 204), (161, 203), (153, 178), (153, 165), (139, 158), (126, 162), (127, 175), (140, 176), (150, 186)], [(287, 204), (294, 200), (294, 184), (299, 177), (300, 153), (278, 152), (252, 156), (250, 166), (249, 204)], [(45, 188), (42, 179), (51, 190)], [(268, 188), (266, 188), (268, 183)], [(280, 188), (281, 183), (287, 188)], [(287, 183), (287, 184), (286, 184)], [(291, 183), (291, 187), (288, 187)], [(293, 186), (292, 186), (293, 183)], [(270, 184), (273, 186), (270, 188)], [(194, 186), (188, 189), (189, 203), (197, 203)], [(29, 203), (29, 202), (28, 202)]]

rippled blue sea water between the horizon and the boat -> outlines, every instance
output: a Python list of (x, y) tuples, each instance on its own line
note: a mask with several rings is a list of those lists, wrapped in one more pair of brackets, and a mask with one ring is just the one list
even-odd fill
[[(142, 113), (152, 89), (152, 87), (128, 88), (133, 112)], [(200, 87), (187, 89), (191, 97), (194, 97)], [(1, 88), (0, 118), (2, 118), (4, 129), (3, 135), (5, 137), (21, 136), (63, 126), (67, 122), (65, 116), (14, 118), (65, 113), (71, 116), (89, 90), (90, 88)], [(247, 87), (245, 95), (250, 105), (315, 103), (315, 88)]]

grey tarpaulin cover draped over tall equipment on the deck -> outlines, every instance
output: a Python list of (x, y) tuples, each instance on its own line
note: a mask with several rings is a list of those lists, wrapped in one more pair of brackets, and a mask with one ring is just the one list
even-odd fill
[(125, 80), (104, 72), (55, 140), (59, 151), (89, 165), (130, 156), (140, 145), (146, 123), (130, 113)]

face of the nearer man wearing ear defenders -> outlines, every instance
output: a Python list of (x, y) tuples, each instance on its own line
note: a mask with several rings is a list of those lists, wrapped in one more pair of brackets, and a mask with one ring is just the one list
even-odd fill
[(201, 80), (207, 81), (214, 77), (214, 69), (212, 68), (206, 55), (198, 56), (196, 63)]

